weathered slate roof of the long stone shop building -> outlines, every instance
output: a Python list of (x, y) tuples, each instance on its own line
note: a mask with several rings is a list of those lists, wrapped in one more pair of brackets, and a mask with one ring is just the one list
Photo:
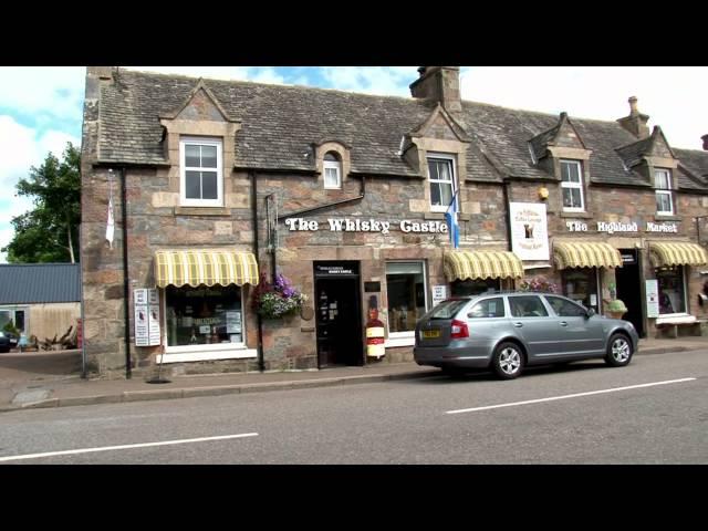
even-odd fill
[[(178, 110), (197, 83), (195, 77), (121, 70), (114, 83), (102, 84), (100, 160), (167, 164), (159, 116)], [(304, 86), (208, 79), (204, 84), (225, 112), (241, 123), (236, 136), (239, 168), (313, 171), (312, 144), (340, 140), (352, 148), (354, 173), (419, 177), (397, 152), (402, 136), (419, 127), (435, 104)], [(471, 138), (468, 179), (550, 177), (532, 163), (529, 143), (533, 139), (532, 147), (541, 150), (539, 135), (543, 134), (542, 139), (552, 134), (559, 116), (464, 101), (455, 118)], [(632, 150), (638, 149), (631, 133), (616, 122), (576, 117), (572, 122), (592, 150), (593, 183), (650, 186), (623, 164), (623, 157), (632, 158), (636, 156)], [(697, 175), (708, 173), (708, 152), (675, 153), (687, 155), (686, 166)], [(679, 184), (701, 188), (687, 178), (679, 177)]]

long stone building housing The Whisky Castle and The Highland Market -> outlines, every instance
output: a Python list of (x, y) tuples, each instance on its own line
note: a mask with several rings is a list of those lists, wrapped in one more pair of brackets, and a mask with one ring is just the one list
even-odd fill
[[(418, 73), (404, 98), (88, 67), (91, 371), (410, 360), (440, 298), (539, 277), (601, 313), (622, 299), (641, 335), (704, 316), (708, 153), (671, 148), (636, 98), (581, 119), (462, 101), (455, 66)], [(299, 315), (253, 310), (275, 273), (308, 296)], [(371, 305), (383, 358), (364, 347)]]

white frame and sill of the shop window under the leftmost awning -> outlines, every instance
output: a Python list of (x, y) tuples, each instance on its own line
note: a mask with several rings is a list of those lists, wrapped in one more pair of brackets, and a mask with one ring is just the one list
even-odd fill
[(160, 289), (163, 345), (165, 354), (157, 356), (158, 363), (201, 362), (208, 360), (238, 360), (256, 357), (258, 351), (246, 346), (246, 313), (243, 313), (243, 287), (241, 287), (241, 341), (240, 343), (214, 343), (208, 345), (169, 346), (167, 343), (167, 290)]

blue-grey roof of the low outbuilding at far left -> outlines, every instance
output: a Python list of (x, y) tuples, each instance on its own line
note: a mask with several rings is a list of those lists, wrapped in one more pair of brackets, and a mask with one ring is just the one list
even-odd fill
[(0, 263), (0, 304), (81, 301), (79, 263)]

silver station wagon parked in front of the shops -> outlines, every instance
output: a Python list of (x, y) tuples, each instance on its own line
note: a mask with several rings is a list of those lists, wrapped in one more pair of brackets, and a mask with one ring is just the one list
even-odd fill
[(627, 365), (639, 337), (634, 325), (595, 314), (554, 293), (483, 293), (451, 298), (416, 325), (414, 357), (455, 373), (491, 368), (516, 378), (527, 365), (602, 357)]

